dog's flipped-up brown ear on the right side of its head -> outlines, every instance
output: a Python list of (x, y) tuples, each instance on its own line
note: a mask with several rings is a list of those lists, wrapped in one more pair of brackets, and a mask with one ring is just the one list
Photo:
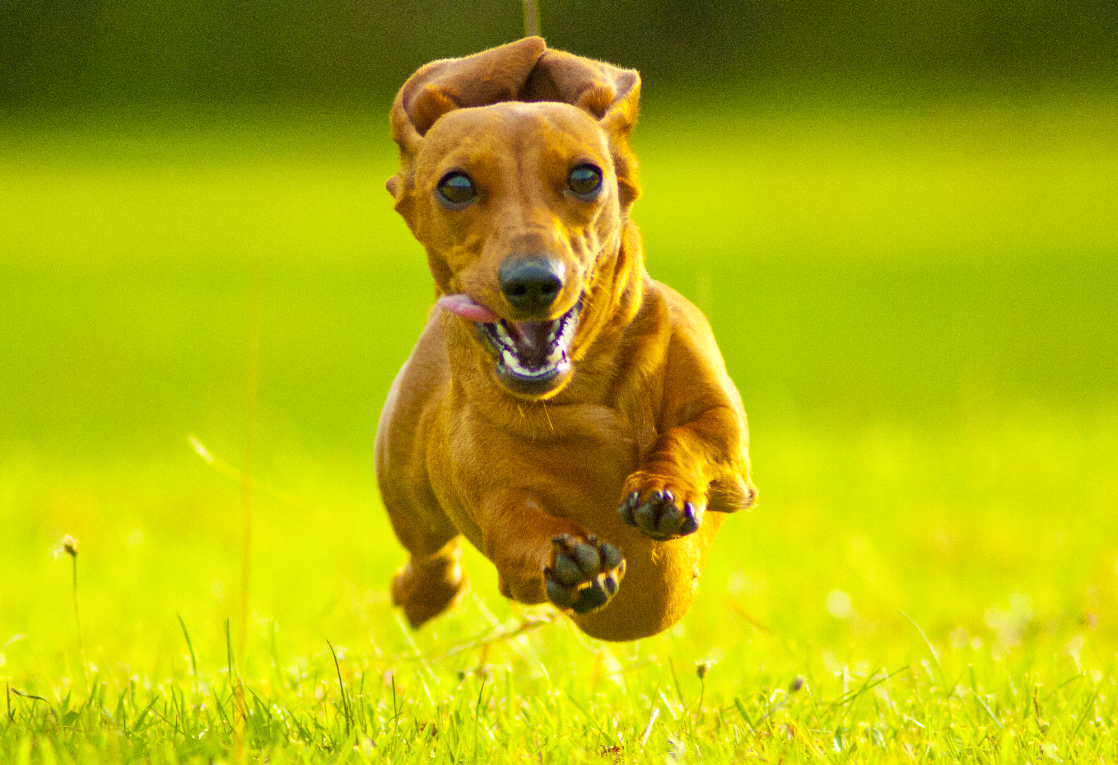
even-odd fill
[(521, 101), (561, 101), (597, 120), (609, 135), (620, 201), (626, 210), (639, 195), (629, 133), (636, 124), (641, 75), (612, 64), (547, 50), (528, 77)]

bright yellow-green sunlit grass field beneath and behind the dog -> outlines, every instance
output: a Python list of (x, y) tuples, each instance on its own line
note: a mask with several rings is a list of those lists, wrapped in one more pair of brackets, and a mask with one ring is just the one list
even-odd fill
[(476, 551), (394, 613), (372, 437), (432, 289), (382, 114), (3, 123), (0, 761), (1118, 759), (1118, 101), (836, 103), (646, 105), (648, 268), (761, 502), (629, 644)]

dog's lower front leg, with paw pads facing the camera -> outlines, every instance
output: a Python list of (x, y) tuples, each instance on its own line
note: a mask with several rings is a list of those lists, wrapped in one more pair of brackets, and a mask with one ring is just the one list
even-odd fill
[(585, 614), (604, 607), (625, 576), (620, 550), (565, 518), (549, 516), (527, 491), (500, 491), (482, 502), (482, 550), (505, 597), (550, 601)]

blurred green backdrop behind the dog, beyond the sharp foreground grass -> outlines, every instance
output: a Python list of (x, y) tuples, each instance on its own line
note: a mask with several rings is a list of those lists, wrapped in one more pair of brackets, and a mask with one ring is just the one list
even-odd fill
[[(762, 502), (655, 650), (907, 661), (901, 608), (994, 657), (1098, 630), (1106, 667), (1115, 8), (543, 0), (552, 46), (642, 69), (648, 268), (710, 317), (750, 415)], [(518, 2), (0, 3), (0, 677), (75, 671), (64, 533), (91, 662), (181, 671), (176, 613), (221, 662), (239, 487), (187, 436), (244, 462), (255, 258), (255, 472), (300, 501), (257, 497), (249, 646), (408, 645), (372, 438), (432, 289), (387, 113), (419, 65), (521, 29)], [(423, 645), (510, 613), (470, 568), (481, 601)], [(566, 635), (533, 639), (577, 659)]]

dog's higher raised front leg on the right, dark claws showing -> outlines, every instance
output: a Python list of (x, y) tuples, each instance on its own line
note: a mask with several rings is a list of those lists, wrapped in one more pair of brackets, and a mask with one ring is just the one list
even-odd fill
[(743, 417), (714, 406), (662, 433), (639, 468), (625, 481), (617, 513), (657, 541), (693, 533), (707, 509), (733, 512), (750, 507)]

